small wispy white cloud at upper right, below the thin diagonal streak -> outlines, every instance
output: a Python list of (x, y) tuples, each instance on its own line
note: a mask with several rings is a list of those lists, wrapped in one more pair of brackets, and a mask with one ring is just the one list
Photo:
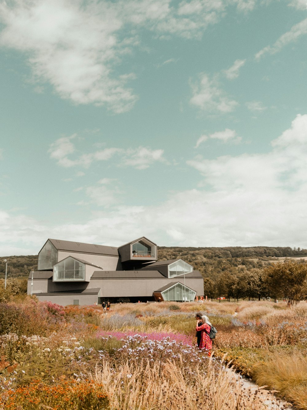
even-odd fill
[(238, 105), (235, 100), (230, 100), (226, 93), (219, 88), (216, 77), (210, 80), (207, 74), (201, 74), (199, 83), (191, 83), (191, 87), (193, 96), (190, 103), (203, 111), (227, 113), (233, 111)]

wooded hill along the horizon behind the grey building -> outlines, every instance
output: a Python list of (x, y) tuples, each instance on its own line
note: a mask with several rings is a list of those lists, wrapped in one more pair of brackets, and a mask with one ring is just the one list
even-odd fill
[[(192, 248), (182, 246), (158, 246), (158, 260), (181, 258), (199, 270), (204, 277), (216, 279), (223, 271), (236, 275), (244, 269), (261, 268), (264, 265), (277, 262), (278, 258), (306, 257), (307, 249), (270, 246), (229, 246), (225, 248)], [(29, 276), (29, 272), (37, 269), (38, 255), (0, 257), (0, 277), (11, 278)]]

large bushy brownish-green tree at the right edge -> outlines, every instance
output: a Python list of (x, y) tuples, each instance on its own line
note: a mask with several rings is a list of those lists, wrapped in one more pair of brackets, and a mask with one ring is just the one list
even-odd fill
[(291, 304), (307, 297), (307, 263), (276, 263), (264, 270), (265, 282), (274, 298), (289, 299)]

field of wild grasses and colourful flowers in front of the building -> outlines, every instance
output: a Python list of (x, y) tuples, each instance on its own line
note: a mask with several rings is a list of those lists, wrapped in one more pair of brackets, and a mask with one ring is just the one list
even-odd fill
[[(213, 358), (195, 346), (199, 311)], [(306, 410), (307, 303), (0, 303), (0, 410), (265, 409), (223, 357)]]

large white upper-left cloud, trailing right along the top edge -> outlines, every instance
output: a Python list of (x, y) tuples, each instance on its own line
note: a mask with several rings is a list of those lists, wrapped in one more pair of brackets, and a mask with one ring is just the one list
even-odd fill
[[(253, 0), (11, 0), (0, 5), (0, 44), (23, 52), (34, 88), (43, 82), (75, 104), (130, 110), (138, 97), (127, 86), (134, 73), (117, 75), (122, 57), (140, 45), (142, 30), (161, 38), (200, 38), (235, 2), (250, 11)], [(171, 62), (172, 59), (165, 62)]]

